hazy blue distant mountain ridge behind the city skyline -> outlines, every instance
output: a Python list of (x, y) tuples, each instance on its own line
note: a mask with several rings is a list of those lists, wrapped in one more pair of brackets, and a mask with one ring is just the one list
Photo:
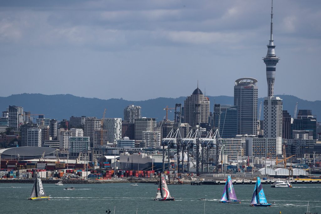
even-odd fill
[[(298, 109), (311, 109), (312, 114), (321, 115), (321, 101), (308, 101), (297, 98), (292, 95), (276, 95), (283, 99), (283, 110), (288, 110), (291, 116), (294, 113), (295, 104), (298, 102)], [(229, 96), (207, 96), (210, 99), (210, 111), (213, 112), (214, 101), (218, 104), (233, 105), (234, 98)], [(129, 101), (122, 98), (116, 99), (98, 99), (77, 97), (71, 94), (15, 94), (8, 97), (0, 97), (0, 111), (5, 111), (9, 105), (22, 106), (24, 111), (30, 111), (31, 114), (44, 114), (45, 118), (68, 119), (71, 116), (96, 116), (101, 118), (106, 108), (105, 117), (123, 118), (124, 108), (128, 105), (142, 107), (143, 117), (154, 117), (160, 121), (166, 115), (163, 110), (166, 106), (175, 107), (176, 103), (184, 106), (186, 97), (179, 98), (155, 98), (142, 101)], [(261, 119), (263, 119), (263, 100), (258, 99), (258, 106), (262, 101)], [(33, 116), (38, 118), (38, 116)], [(174, 111), (169, 111), (169, 119), (174, 118)], [(320, 121), (317, 117), (317, 121)]]

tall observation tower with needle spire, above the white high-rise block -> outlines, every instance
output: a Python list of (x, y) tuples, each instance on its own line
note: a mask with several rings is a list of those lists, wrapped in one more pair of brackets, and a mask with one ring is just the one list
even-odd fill
[(270, 33), (270, 42), (267, 45), (267, 54), (263, 58), (266, 65), (266, 80), (267, 80), (267, 96), (273, 97), (273, 87), (275, 79), (275, 68), (276, 64), (279, 62), (279, 57), (275, 55), (275, 45), (273, 41), (273, 0), (271, 6), (271, 33)]

